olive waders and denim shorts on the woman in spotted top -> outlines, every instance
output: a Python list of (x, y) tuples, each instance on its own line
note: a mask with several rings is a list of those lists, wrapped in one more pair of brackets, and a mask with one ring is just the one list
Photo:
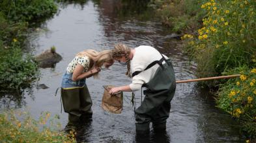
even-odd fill
[(92, 116), (92, 100), (85, 79), (73, 81), (72, 74), (65, 73), (61, 85), (63, 109), (68, 113), (68, 124), (83, 121)]

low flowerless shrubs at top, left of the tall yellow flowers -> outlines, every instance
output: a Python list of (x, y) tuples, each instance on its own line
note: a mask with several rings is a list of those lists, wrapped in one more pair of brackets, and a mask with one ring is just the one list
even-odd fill
[(174, 32), (193, 32), (200, 27), (205, 11), (200, 5), (205, 0), (151, 0), (149, 6), (156, 9), (162, 23)]

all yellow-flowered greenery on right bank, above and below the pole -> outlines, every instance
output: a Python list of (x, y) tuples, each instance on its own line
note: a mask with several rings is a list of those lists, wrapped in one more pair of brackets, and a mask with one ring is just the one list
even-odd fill
[[(197, 76), (237, 74), (219, 84), (218, 107), (240, 120), (248, 137), (256, 137), (256, 1), (210, 0), (197, 34), (185, 34), (186, 52), (197, 62)], [(206, 82), (209, 87), (216, 83)]]

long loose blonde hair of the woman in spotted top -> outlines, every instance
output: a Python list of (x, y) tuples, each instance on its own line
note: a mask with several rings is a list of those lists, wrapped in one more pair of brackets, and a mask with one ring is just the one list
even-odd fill
[[(107, 63), (113, 63), (114, 60), (112, 58), (112, 51), (111, 50), (102, 50), (100, 52), (97, 52), (96, 50), (88, 49), (83, 50), (82, 52), (79, 52), (76, 54), (76, 56), (88, 56), (91, 60), (94, 61), (94, 66), (102, 67), (104, 62)], [(90, 64), (91, 65), (91, 64)], [(92, 68), (92, 67), (89, 67)], [(94, 78), (98, 76), (97, 74), (94, 74)]]

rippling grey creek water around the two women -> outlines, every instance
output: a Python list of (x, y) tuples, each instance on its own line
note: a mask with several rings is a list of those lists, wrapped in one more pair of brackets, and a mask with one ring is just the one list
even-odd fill
[[(66, 126), (68, 114), (60, 113), (61, 77), (76, 53), (85, 49), (112, 49), (117, 43), (130, 47), (150, 45), (169, 56), (173, 61), (177, 80), (195, 78), (196, 64), (182, 53), (180, 41), (169, 38), (169, 28), (150, 13), (141, 10), (141, 5), (129, 5), (115, 0), (100, 2), (63, 3), (53, 18), (42, 23), (29, 36), (30, 49), (40, 54), (51, 46), (63, 56), (53, 68), (40, 69), (40, 80), (48, 89), (33, 87), (21, 98), (1, 97), (1, 109), (28, 109), (35, 118), (42, 111), (59, 115)], [(136, 14), (139, 13), (139, 14)], [(92, 121), (81, 126), (79, 142), (242, 142), (239, 124), (214, 104), (212, 95), (197, 88), (195, 83), (179, 83), (171, 101), (166, 133), (150, 132), (149, 137), (136, 137), (134, 107), (131, 93), (124, 93), (124, 108), (120, 115), (101, 108), (102, 85), (127, 85), (126, 67), (114, 63), (107, 71), (100, 72), (100, 79), (87, 79), (92, 98)], [(141, 103), (141, 92), (135, 93), (135, 106)]]

